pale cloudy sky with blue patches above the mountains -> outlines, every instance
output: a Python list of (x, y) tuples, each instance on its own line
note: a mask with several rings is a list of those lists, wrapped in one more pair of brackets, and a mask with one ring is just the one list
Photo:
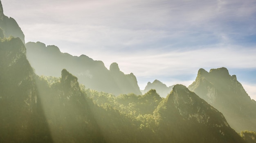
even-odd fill
[(140, 89), (226, 67), (256, 100), (255, 0), (1, 0), (25, 41), (117, 62)]

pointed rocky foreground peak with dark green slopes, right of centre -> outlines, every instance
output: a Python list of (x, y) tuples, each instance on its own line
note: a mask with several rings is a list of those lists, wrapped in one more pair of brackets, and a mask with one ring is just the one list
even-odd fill
[(175, 85), (154, 113), (161, 142), (242, 143), (218, 110), (189, 91)]

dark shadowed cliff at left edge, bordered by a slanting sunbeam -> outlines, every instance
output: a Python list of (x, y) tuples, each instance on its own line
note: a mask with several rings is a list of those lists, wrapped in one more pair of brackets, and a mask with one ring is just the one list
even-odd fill
[(35, 82), (22, 41), (0, 39), (1, 143), (52, 141)]

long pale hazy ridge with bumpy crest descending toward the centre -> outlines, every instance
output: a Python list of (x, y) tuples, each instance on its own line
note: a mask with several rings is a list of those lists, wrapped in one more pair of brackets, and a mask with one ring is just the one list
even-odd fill
[(62, 53), (54, 45), (28, 42), (26, 48), (27, 58), (38, 75), (58, 77), (59, 71), (65, 68), (77, 76), (86, 88), (114, 95), (141, 95), (136, 77), (132, 73), (121, 72), (117, 63), (112, 63), (108, 70), (102, 61), (94, 61), (85, 55)]

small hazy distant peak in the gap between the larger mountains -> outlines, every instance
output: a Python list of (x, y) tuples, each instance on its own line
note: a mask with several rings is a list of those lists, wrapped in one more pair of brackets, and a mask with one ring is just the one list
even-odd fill
[(142, 94), (147, 93), (150, 89), (155, 89), (161, 97), (166, 97), (172, 90), (174, 85), (167, 87), (159, 80), (154, 80), (152, 83), (148, 82), (144, 90), (141, 90)]

